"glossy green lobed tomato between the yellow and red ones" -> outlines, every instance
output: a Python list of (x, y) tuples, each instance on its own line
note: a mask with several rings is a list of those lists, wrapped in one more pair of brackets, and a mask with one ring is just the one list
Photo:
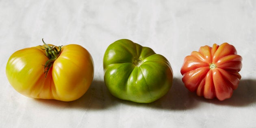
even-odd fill
[(154, 102), (169, 91), (173, 81), (171, 65), (164, 56), (128, 39), (108, 46), (103, 68), (106, 87), (122, 100)]

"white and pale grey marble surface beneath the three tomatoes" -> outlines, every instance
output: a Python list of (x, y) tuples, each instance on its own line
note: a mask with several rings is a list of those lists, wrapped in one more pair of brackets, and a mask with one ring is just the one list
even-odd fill
[[(94, 59), (95, 76), (73, 102), (36, 100), (17, 93), (5, 76), (9, 56), (41, 45), (80, 44)], [(130, 39), (165, 56), (174, 83), (160, 100), (138, 104), (106, 89), (107, 46)], [(181, 81), (183, 58), (200, 46), (228, 42), (243, 57), (232, 98), (205, 100)], [(0, 127), (256, 127), (255, 0), (0, 0)]]

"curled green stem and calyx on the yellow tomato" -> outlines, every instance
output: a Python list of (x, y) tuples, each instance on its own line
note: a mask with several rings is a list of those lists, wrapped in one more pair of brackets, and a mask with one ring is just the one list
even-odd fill
[(46, 64), (43, 65), (44, 66), (43, 72), (46, 73), (46, 76), (47, 76), (50, 67), (52, 67), (54, 61), (59, 57), (59, 54), (61, 53), (61, 46), (59, 46), (59, 50), (58, 50), (55, 46), (49, 46), (44, 41), (43, 41), (43, 44), (45, 45), (43, 47), (46, 50), (46, 56), (49, 58), (49, 60), (46, 61)]

